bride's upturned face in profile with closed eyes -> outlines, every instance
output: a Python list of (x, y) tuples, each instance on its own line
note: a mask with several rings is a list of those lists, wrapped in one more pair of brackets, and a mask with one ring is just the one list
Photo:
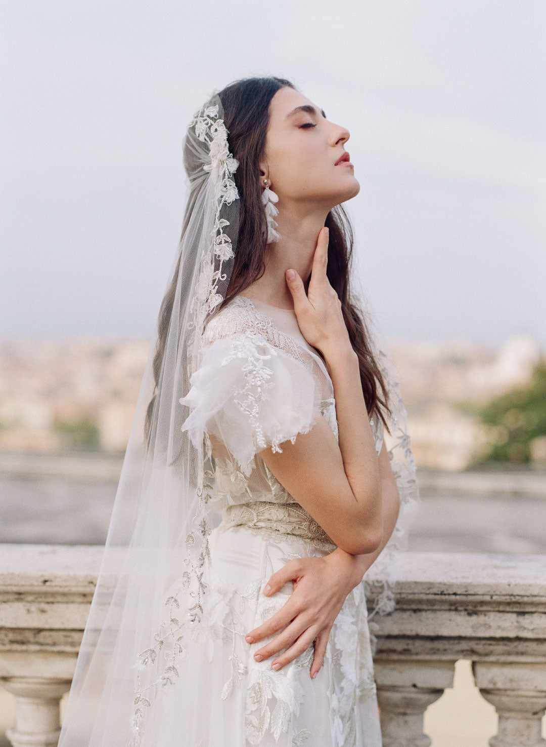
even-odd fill
[(316, 203), (329, 211), (360, 191), (354, 167), (335, 165), (348, 139), (349, 131), (327, 120), (305, 96), (280, 88), (269, 105), (262, 181), (268, 176), (279, 202)]

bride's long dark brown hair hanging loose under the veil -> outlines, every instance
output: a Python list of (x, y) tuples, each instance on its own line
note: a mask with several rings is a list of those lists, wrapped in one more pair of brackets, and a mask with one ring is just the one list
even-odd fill
[[(260, 278), (266, 270), (266, 213), (261, 199), (258, 164), (266, 146), (269, 104), (277, 90), (283, 86), (296, 89), (292, 81), (272, 76), (241, 78), (219, 91), (224, 108), (224, 123), (228, 129), (230, 153), (239, 161), (233, 174), (239, 192), (239, 232), (230, 282), (220, 309)], [(189, 213), (190, 206), (186, 210), (185, 224), (189, 220)], [(342, 303), (348, 335), (359, 359), (360, 381), (368, 416), (371, 417), (375, 412), (386, 430), (389, 430), (384, 415), (390, 415), (388, 390), (371, 350), (365, 312), (351, 295), (349, 288), (354, 245), (351, 221), (342, 205), (336, 205), (327, 214), (324, 225), (329, 229), (327, 276)], [(156, 387), (160, 379), (177, 277), (178, 267), (160, 309), (153, 364)], [(148, 433), (154, 400), (155, 395), (148, 405), (145, 433)]]

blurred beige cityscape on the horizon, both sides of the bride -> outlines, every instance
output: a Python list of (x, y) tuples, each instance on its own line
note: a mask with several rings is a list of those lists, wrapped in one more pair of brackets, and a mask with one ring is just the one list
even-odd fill
[[(148, 350), (146, 338), (1, 340), (0, 450), (122, 454)], [(466, 341), (392, 342), (389, 353), (419, 468), (464, 470), (503, 441), (506, 461), (546, 466), (540, 412), (531, 412), (536, 436), (531, 429), (533, 437), (525, 445), (508, 443), (514, 428), (529, 425), (527, 415), (510, 404), (510, 393), (518, 395), (516, 404), (523, 402), (521, 393), (546, 365), (531, 335), (515, 335), (498, 349)], [(489, 411), (483, 415), (486, 406), (503, 397), (502, 421)]]

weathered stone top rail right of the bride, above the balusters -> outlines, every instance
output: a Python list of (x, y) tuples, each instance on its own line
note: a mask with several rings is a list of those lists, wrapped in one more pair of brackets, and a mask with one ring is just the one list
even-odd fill
[(380, 657), (545, 656), (546, 555), (404, 553), (395, 572), (397, 606), (376, 618)]

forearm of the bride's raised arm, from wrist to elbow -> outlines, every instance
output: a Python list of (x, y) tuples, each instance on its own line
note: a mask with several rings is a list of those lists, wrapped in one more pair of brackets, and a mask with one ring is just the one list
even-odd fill
[(352, 347), (332, 349), (324, 358), (336, 400), (339, 450), (345, 474), (366, 526), (371, 530), (380, 529), (380, 471), (360, 380), (359, 359)]

